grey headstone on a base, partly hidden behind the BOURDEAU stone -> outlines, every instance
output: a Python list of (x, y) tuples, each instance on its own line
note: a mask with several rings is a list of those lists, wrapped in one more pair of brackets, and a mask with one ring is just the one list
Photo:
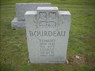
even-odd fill
[(35, 11), (37, 7), (50, 7), (50, 3), (16, 3), (16, 17), (12, 20), (12, 28), (25, 28), (24, 14), (26, 11)]

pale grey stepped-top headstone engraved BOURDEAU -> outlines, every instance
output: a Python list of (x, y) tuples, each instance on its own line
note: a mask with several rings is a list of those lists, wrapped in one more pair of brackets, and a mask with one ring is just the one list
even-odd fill
[(25, 14), (31, 63), (65, 63), (70, 31), (70, 12), (57, 7), (38, 7)]

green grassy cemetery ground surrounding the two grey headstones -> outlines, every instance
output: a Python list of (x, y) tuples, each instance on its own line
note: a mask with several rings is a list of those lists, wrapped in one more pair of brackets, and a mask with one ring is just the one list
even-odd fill
[[(50, 2), (59, 10), (71, 12), (71, 30), (67, 50), (68, 64), (30, 64), (25, 29), (13, 30), (15, 3)], [(95, 71), (94, 0), (1, 0), (1, 71)]]

